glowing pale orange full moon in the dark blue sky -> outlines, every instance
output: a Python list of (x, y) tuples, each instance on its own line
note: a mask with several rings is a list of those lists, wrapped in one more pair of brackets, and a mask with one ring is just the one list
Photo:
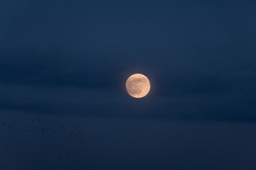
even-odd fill
[(126, 89), (134, 98), (142, 98), (149, 93), (150, 82), (143, 74), (133, 74), (127, 79)]

